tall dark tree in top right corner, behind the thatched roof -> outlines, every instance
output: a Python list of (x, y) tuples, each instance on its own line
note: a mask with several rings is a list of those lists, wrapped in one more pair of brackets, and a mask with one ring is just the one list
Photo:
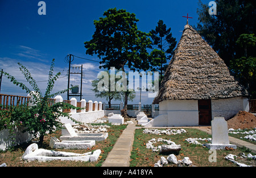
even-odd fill
[[(199, 23), (196, 29), (229, 66), (230, 60), (244, 54), (244, 50), (236, 43), (240, 35), (256, 34), (256, 3), (245, 0), (215, 2), (217, 15), (209, 15), (208, 4), (199, 1)], [(256, 50), (248, 51), (249, 56), (255, 56)]]

